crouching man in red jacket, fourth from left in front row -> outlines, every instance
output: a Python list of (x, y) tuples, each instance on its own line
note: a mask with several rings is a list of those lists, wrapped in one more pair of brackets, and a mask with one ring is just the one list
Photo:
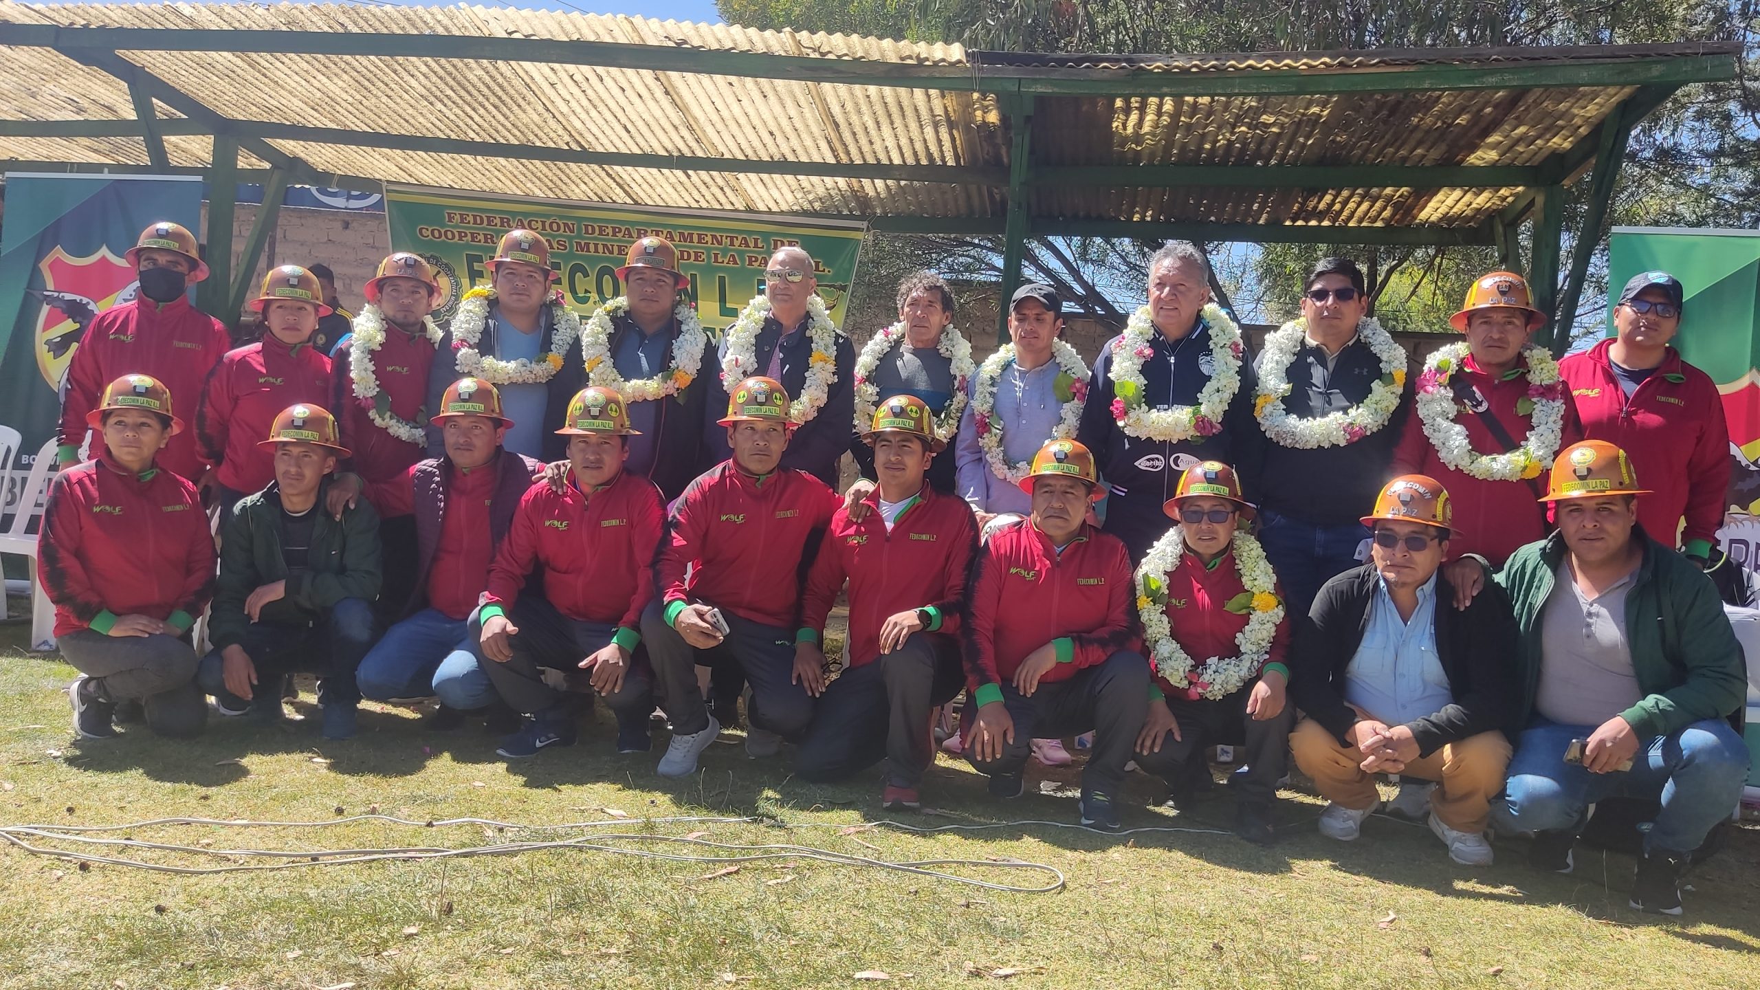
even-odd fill
[[(560, 491), (533, 484), (519, 500), (472, 622), (477, 664), (502, 699), (530, 717), (496, 752), (523, 757), (574, 745), (568, 705), (542, 668), (590, 671), (591, 689), (618, 717), (618, 752), (646, 752), (653, 678), (635, 648), (665, 507), (651, 481), (623, 470), (632, 430), (616, 391), (581, 389), (556, 432), (568, 437), (568, 479)], [(519, 594), (533, 571), (542, 597)]]

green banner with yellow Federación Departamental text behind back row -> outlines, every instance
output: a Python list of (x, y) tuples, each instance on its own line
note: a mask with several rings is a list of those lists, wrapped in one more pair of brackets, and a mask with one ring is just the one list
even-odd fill
[(442, 322), (470, 287), (488, 285), (484, 262), (495, 257), (502, 234), (526, 227), (544, 236), (551, 268), (561, 275), (556, 287), (581, 314), (623, 294), (616, 270), (625, 252), (632, 241), (655, 234), (678, 247), (679, 270), (690, 278), (685, 292), (706, 328), (725, 329), (739, 317), (739, 310), (764, 291), (771, 252), (787, 245), (813, 255), (818, 294), (841, 324), (864, 233), (862, 224), (838, 220), (667, 211), (398, 185), (385, 187), (385, 218), (392, 250), (415, 252), (438, 271), (445, 298), (435, 317)]

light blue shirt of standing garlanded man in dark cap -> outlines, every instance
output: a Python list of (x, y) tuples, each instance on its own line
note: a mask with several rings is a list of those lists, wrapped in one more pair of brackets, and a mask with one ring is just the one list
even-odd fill
[[(1008, 363), (996, 375), (996, 423), (1001, 426), (1001, 451), (1008, 463), (1031, 463), (1038, 447), (1045, 446), (1051, 432), (1058, 428), (1063, 403), (1058, 402), (1058, 363), (1045, 361), (1031, 372), (1023, 372), (1019, 365)], [(975, 395), (977, 375), (966, 386), (968, 395)], [(984, 460), (984, 447), (979, 446), (979, 428), (973, 419), (973, 405), (959, 417), (959, 435), (954, 440), (954, 467), (959, 497), (980, 513), (1019, 513), (1031, 514), (1033, 497), (1021, 491), (1021, 486), (996, 477)]]

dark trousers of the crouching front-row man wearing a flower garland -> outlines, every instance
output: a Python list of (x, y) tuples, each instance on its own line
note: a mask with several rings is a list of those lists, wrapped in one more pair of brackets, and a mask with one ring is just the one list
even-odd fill
[[(1246, 713), (1246, 699), (1253, 694), (1250, 682), (1227, 698), (1174, 698), (1151, 701), (1167, 705), (1179, 722), (1179, 735), (1162, 736), (1162, 749), (1148, 756), (1137, 754), (1137, 766), (1163, 777), (1177, 787), (1190, 772), (1192, 761), (1204, 761), (1206, 749), (1223, 743), (1244, 747), (1246, 773), (1236, 777), (1236, 800), (1243, 805), (1269, 805), (1278, 796), (1278, 780), (1290, 766), (1290, 731), (1295, 728), (1295, 706), (1283, 703), (1274, 719), (1257, 720)], [(1207, 772), (1206, 765), (1206, 772)]]

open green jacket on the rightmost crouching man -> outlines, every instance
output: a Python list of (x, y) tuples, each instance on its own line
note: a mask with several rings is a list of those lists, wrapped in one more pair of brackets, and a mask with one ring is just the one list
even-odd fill
[[(1723, 615), (1716, 587), (1686, 557), (1633, 528), (1644, 562), (1626, 592), (1626, 638), (1644, 699), (1619, 715), (1640, 740), (1676, 733), (1704, 719), (1723, 719), (1748, 698), (1741, 643)], [(1510, 735), (1533, 719), (1540, 691), (1542, 610), (1565, 558), (1565, 537), (1552, 534), (1517, 550), (1498, 573), (1515, 606), (1521, 645)]]

